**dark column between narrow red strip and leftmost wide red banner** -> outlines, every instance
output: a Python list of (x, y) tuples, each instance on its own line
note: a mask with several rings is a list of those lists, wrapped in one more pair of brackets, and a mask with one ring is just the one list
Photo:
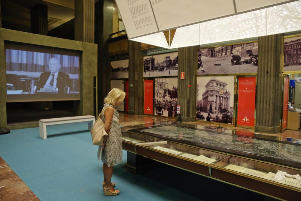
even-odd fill
[(129, 114), (143, 114), (143, 55), (141, 43), (129, 40)]

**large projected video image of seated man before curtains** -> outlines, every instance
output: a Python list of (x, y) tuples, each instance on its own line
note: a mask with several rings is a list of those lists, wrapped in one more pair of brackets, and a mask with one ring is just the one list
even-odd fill
[(79, 94), (79, 56), (5, 49), (7, 94)]

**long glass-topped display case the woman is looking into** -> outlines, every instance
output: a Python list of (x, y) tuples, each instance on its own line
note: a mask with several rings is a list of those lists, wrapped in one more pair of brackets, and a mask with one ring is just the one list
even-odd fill
[(296, 143), (170, 124), (136, 127), (123, 138), (135, 147), (133, 166), (143, 165), (137, 158), (148, 158), (285, 200), (301, 193), (301, 146)]

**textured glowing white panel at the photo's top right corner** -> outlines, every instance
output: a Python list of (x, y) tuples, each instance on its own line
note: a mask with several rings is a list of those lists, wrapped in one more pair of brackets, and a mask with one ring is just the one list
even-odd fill
[(274, 6), (267, 10), (268, 35), (301, 30), (301, 1)]

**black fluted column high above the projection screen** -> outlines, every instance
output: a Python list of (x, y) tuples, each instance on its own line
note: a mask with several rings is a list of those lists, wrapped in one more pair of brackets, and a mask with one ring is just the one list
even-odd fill
[(30, 9), (30, 32), (47, 36), (48, 33), (48, 7), (37, 4)]

